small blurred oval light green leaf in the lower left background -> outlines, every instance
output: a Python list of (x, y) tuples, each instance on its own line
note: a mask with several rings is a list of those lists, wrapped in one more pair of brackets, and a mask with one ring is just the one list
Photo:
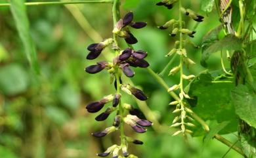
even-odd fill
[(46, 108), (46, 115), (58, 125), (63, 125), (69, 119), (68, 113), (64, 109), (54, 106)]

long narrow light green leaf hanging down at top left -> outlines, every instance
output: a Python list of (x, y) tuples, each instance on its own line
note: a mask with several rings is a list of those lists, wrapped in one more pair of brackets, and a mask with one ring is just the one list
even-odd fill
[(38, 74), (39, 65), (37, 62), (37, 53), (30, 35), (30, 24), (28, 16), (26, 15), (26, 6), (24, 5), (24, 0), (10, 0), (10, 3), (12, 16), (14, 17), (16, 28), (24, 45), (26, 56), (30, 62), (30, 65)]

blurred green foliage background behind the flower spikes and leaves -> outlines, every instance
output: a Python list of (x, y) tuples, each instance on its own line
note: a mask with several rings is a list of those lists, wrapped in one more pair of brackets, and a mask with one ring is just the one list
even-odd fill
[[(156, 26), (170, 18), (177, 18), (177, 9), (156, 7), (155, 0), (127, 1), (134, 3), (123, 1), (121, 14), (132, 10), (135, 20), (148, 22), (146, 28), (132, 30), (139, 39), (135, 48), (146, 50), (146, 60), (151, 68), (160, 72), (170, 60), (165, 54), (172, 49), (174, 39), (169, 37), (168, 31), (158, 30)], [(0, 0), (0, 3), (7, 1)], [(184, 6), (200, 10), (200, 3), (200, 0), (184, 1)], [(95, 61), (85, 60), (88, 53), (86, 47), (100, 42), (101, 38), (112, 37), (111, 4), (33, 6), (27, 10), (37, 47), (41, 69), (39, 76), (33, 74), (24, 55), (11, 10), (0, 7), (0, 157), (94, 158), (96, 153), (112, 144), (119, 144), (119, 132), (101, 139), (91, 136), (91, 132), (112, 125), (114, 114), (99, 123), (95, 121), (96, 114), (85, 111), (89, 102), (114, 92), (106, 71), (96, 75), (84, 71), (85, 67), (95, 64)], [(200, 45), (207, 31), (219, 25), (216, 10), (208, 15), (199, 12), (205, 16), (205, 21), (200, 23), (196, 37), (192, 39), (196, 45)], [(188, 28), (196, 25), (188, 18), (185, 20)], [(125, 49), (125, 43), (120, 42)], [(189, 71), (198, 74), (203, 71), (199, 64), (200, 49), (190, 45), (187, 49), (188, 56), (198, 63)], [(112, 55), (113, 52), (105, 50), (96, 61), (111, 58)], [(218, 54), (215, 54), (209, 60), (210, 69), (219, 68), (218, 59)], [(152, 111), (148, 112), (152, 112), (164, 127), (171, 125), (173, 115), (168, 104), (172, 98), (146, 69), (135, 69), (135, 72), (132, 81), (149, 96), (147, 104)], [(173, 85), (179, 78), (165, 75), (164, 79)], [(134, 101), (127, 103), (137, 106)], [(181, 136), (172, 137), (169, 128), (161, 133), (149, 128), (144, 134), (136, 134), (126, 127), (125, 132), (144, 142), (142, 146), (131, 145), (129, 149), (130, 153), (140, 158), (221, 158), (228, 151), (228, 147), (217, 140), (203, 144), (203, 137), (188, 140)], [(234, 134), (225, 137), (232, 142), (237, 140)], [(241, 156), (231, 150), (226, 155), (228, 157)]]

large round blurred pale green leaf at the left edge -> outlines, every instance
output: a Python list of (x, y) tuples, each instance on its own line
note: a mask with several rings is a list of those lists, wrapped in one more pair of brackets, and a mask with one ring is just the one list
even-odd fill
[(0, 90), (4, 94), (14, 95), (28, 89), (28, 73), (16, 64), (0, 68)]

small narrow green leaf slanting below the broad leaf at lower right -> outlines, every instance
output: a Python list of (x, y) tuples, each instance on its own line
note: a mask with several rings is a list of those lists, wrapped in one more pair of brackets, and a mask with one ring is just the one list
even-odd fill
[(207, 144), (213, 138), (213, 136), (215, 136), (215, 134), (218, 134), (229, 123), (230, 123), (230, 121), (224, 121), (224, 122), (220, 123), (219, 125), (212, 127), (211, 130), (209, 131), (209, 133), (207, 133), (205, 135), (205, 138), (203, 138), (203, 143)]

